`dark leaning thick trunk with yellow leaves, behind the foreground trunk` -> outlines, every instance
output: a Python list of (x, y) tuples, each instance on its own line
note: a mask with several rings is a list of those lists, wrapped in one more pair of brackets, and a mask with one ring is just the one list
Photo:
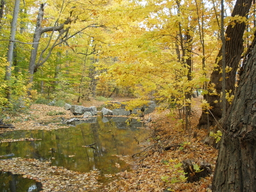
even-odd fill
[[(246, 16), (250, 10), (251, 2), (253, 0), (237, 0), (232, 16), (240, 15)], [(233, 25), (234, 24), (234, 25)], [(234, 20), (226, 29), (226, 66), (232, 68), (229, 73), (226, 73), (226, 91), (231, 90), (231, 94), (234, 94), (236, 73), (238, 69), (239, 62), (241, 60), (241, 55), (243, 52), (243, 32), (245, 31), (245, 23), (239, 23)], [(222, 115), (222, 103), (221, 103), (221, 91), (222, 91), (222, 60), (220, 59), (222, 53), (221, 49), (218, 53), (216, 64), (217, 67), (214, 68), (212, 75), (210, 76), (210, 82), (208, 85), (208, 94), (204, 95), (204, 99), (208, 101), (210, 106), (212, 106), (212, 114), (216, 120), (221, 119)], [(213, 92), (210, 87), (214, 87), (216, 93)], [(217, 102), (216, 102), (217, 101)], [(226, 103), (226, 108), (228, 109), (229, 103)], [(199, 128), (208, 127), (208, 116), (209, 116), (209, 126), (214, 126), (217, 122), (214, 120), (213, 116), (206, 114), (206, 111), (202, 112), (201, 118), (199, 120)]]

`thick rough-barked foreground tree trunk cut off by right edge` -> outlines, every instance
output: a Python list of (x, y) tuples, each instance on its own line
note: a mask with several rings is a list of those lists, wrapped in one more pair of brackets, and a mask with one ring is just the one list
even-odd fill
[[(254, 34), (255, 35), (255, 34)], [(227, 115), (212, 191), (256, 191), (256, 38)]]

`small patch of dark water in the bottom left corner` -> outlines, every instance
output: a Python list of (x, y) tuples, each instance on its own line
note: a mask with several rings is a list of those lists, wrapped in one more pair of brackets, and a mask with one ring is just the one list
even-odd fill
[(10, 172), (0, 172), (0, 181), (0, 192), (42, 191), (41, 183)]

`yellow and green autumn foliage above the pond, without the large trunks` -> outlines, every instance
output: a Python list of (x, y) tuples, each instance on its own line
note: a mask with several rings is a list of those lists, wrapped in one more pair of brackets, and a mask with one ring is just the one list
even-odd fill
[[(220, 60), (219, 3), (23, 1), (16, 24), (13, 74), (9, 82), (2, 76), (2, 95), (7, 94), (7, 84), (13, 98), (26, 95), (15, 89), (30, 89), (48, 98), (55, 97), (56, 90), (63, 90), (62, 96), (69, 90), (79, 97), (84, 90), (92, 94), (94, 86), (93, 95), (106, 96), (118, 89), (136, 97), (158, 98), (167, 105), (187, 105), (186, 94), (215, 90), (208, 82)], [(245, 23), (246, 47), (253, 20), (247, 15), (230, 15), (233, 4), (225, 2), (225, 27)], [(4, 72), (14, 5), (9, 1), (1, 5)], [(27, 78), (30, 84), (25, 83)], [(18, 80), (26, 87), (15, 86)], [(8, 103), (4, 98), (2, 105)], [(227, 99), (231, 101), (232, 95)]]

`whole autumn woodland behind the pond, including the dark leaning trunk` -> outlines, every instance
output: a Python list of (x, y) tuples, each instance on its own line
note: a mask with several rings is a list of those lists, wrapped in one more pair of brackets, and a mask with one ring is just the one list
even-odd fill
[(128, 110), (149, 99), (159, 109), (185, 108), (187, 130), (197, 91), (205, 110), (199, 127), (209, 128), (233, 101), (254, 37), (254, 6), (249, 0), (1, 0), (0, 110), (126, 95), (136, 98)]

